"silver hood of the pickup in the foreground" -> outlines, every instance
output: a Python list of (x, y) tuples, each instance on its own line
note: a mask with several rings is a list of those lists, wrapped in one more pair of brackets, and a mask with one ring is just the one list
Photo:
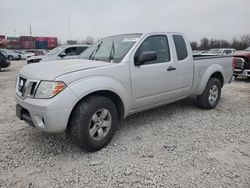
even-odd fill
[(19, 74), (31, 80), (54, 80), (63, 74), (111, 64), (112, 63), (85, 59), (57, 60), (25, 65)]

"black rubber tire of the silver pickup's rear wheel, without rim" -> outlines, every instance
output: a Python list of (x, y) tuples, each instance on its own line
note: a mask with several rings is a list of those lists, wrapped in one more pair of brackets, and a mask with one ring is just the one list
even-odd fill
[[(205, 108), (205, 109), (215, 108), (220, 100), (221, 87), (222, 87), (222, 85), (218, 79), (210, 78), (207, 82), (207, 85), (206, 85), (205, 90), (203, 91), (202, 95), (197, 97), (199, 106), (202, 108)], [(210, 90), (213, 90), (213, 88), (218, 89), (218, 94), (217, 94), (217, 97), (212, 97), (214, 100), (213, 100), (213, 102), (211, 102)]]

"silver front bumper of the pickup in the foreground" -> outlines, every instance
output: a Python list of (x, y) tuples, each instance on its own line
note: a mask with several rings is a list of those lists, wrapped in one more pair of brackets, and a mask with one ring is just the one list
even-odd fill
[(16, 95), (16, 115), (29, 125), (50, 133), (66, 130), (70, 113), (78, 98), (69, 89), (51, 99), (22, 99)]

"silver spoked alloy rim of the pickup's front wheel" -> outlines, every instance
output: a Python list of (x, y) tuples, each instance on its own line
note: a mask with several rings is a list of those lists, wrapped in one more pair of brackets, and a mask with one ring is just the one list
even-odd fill
[(97, 110), (89, 122), (89, 135), (96, 141), (102, 140), (109, 133), (111, 123), (111, 114), (107, 109)]

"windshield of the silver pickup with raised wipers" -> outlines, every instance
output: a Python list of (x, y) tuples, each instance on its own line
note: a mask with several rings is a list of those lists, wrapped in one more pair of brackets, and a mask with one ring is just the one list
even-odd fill
[(81, 55), (81, 59), (120, 63), (141, 34), (111, 36), (101, 39)]

